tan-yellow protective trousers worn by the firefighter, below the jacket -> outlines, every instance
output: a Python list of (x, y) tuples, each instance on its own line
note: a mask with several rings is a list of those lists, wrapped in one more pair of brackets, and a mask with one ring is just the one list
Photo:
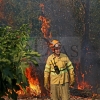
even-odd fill
[(51, 84), (51, 100), (70, 100), (69, 83)]

